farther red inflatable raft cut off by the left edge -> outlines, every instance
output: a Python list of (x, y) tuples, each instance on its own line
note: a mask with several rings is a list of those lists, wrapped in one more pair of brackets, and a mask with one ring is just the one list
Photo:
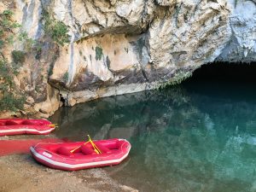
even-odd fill
[(45, 135), (55, 129), (44, 119), (0, 119), (0, 136), (36, 134)]

